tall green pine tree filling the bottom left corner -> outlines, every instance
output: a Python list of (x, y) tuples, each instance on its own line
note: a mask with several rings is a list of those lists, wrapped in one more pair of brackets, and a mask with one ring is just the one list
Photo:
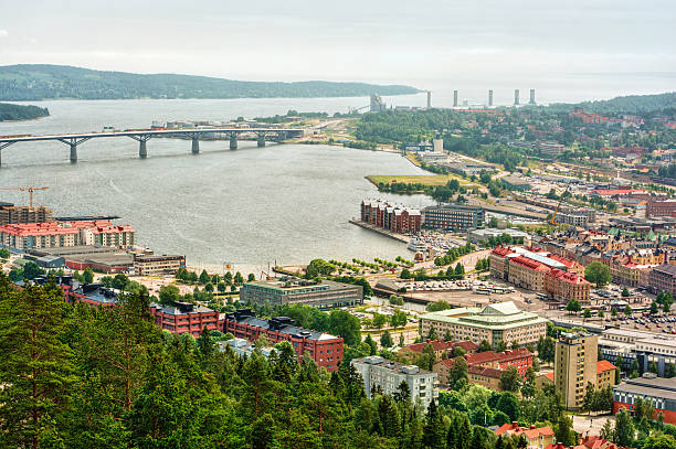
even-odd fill
[(54, 284), (15, 290), (0, 272), (0, 446), (32, 447), (60, 438), (71, 397), (68, 319)]

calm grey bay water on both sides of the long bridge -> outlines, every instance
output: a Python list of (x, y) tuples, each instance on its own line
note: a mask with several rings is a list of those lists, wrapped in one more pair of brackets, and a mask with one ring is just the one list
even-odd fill
[[(240, 115), (298, 110), (345, 110), (363, 98), (261, 100), (44, 101), (51, 117), (0, 124), (0, 135), (147, 127), (151, 120), (229, 119)], [(137, 239), (157, 253), (178, 253), (211, 268), (234, 263), (246, 270), (268, 261), (302, 264), (315, 257), (410, 257), (405, 245), (348, 223), (363, 197), (389, 197), (413, 206), (423, 196), (378, 194), (368, 174), (420, 174), (398, 154), (329, 146), (151, 139), (138, 159), (131, 139), (94, 139), (67, 161), (60, 142), (17, 143), (2, 151), (0, 185), (49, 185), (34, 202), (55, 215), (119, 215)], [(25, 204), (22, 192), (1, 201)]]

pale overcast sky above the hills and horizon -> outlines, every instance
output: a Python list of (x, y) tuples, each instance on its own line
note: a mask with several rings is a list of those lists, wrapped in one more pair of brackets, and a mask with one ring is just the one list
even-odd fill
[(415, 84), (676, 73), (676, 1), (0, 0), (0, 65)]

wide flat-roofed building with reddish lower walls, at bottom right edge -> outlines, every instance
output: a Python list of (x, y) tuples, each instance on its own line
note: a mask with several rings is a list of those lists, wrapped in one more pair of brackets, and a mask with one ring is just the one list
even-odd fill
[(620, 408), (633, 410), (636, 399), (649, 400), (664, 423), (676, 425), (676, 377), (662, 378), (646, 373), (613, 387), (613, 413)]

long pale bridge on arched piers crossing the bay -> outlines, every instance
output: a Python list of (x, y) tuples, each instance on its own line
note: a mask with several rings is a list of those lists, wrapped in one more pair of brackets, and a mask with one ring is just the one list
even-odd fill
[(233, 127), (197, 127), (197, 128), (157, 128), (157, 129), (125, 129), (124, 131), (64, 133), (64, 135), (13, 135), (0, 136), (0, 163), (2, 161), (2, 150), (19, 142), (36, 142), (55, 140), (67, 145), (71, 148), (71, 162), (77, 162), (77, 146), (91, 139), (108, 137), (129, 137), (138, 141), (138, 157), (145, 159), (148, 156), (147, 142), (154, 137), (180, 137), (192, 141), (191, 151), (193, 154), (200, 152), (200, 139), (211, 135), (224, 135), (230, 139), (230, 149), (237, 149), (237, 136), (241, 133), (255, 133), (258, 147), (265, 147), (265, 138), (281, 142), (283, 140), (299, 137), (303, 129), (299, 128), (233, 128)]

